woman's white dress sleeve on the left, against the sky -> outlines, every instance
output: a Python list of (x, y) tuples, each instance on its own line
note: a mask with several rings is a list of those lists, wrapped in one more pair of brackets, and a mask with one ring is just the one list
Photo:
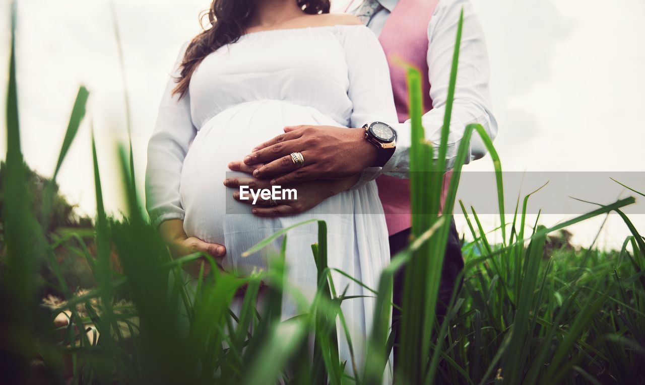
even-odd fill
[(184, 219), (179, 180), (184, 158), (197, 129), (190, 115), (190, 95), (186, 93), (179, 99), (179, 95), (172, 95), (172, 89), (177, 85), (175, 77), (179, 76), (179, 66), (187, 47), (188, 43), (184, 44), (177, 57), (148, 142), (146, 209), (155, 227), (166, 220)]

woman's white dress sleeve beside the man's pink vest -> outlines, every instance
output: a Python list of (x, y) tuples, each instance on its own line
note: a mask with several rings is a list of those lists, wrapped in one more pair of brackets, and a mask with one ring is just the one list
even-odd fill
[[(350, 80), (348, 96), (353, 105), (350, 127), (362, 127), (375, 120), (398, 122), (390, 68), (376, 35), (366, 26), (348, 28), (344, 50)], [(381, 167), (369, 167), (352, 188), (361, 187), (380, 174)]]

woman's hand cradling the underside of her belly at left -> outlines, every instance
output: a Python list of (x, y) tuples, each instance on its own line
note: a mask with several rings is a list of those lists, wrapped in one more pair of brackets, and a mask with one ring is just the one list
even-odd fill
[[(195, 252), (204, 252), (215, 258), (217, 265), (224, 256), (226, 256), (226, 248), (217, 243), (206, 243), (203, 240), (195, 237), (189, 237), (184, 232), (184, 221), (182, 220), (167, 220), (159, 225), (159, 233), (161, 238), (166, 241), (170, 253), (174, 258), (181, 258)], [(201, 265), (204, 264), (204, 276), (210, 273), (210, 263), (208, 259), (200, 257), (194, 261), (183, 266), (184, 270), (191, 276), (199, 276)]]

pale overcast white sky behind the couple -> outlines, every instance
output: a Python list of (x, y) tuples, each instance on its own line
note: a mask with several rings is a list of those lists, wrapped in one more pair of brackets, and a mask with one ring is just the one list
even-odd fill
[[(488, 43), (493, 112), (499, 122), (495, 147), (504, 171), (645, 171), (645, 2), (472, 2)], [(53, 173), (75, 95), (83, 84), (90, 90), (88, 113), (58, 182), (79, 211), (94, 213), (90, 148), (93, 130), (106, 207), (119, 212), (124, 206), (115, 148), (119, 141), (127, 140), (127, 135), (111, 4), (121, 33), (132, 111), (135, 173), (139, 191), (143, 191), (146, 143), (161, 93), (181, 44), (199, 32), (198, 15), (208, 7), (208, 1), (17, 3), (17, 77), (26, 162), (45, 176)], [(333, 9), (344, 8), (345, 3), (334, 1)], [(4, 0), (0, 5), (0, 56), (6, 59), (9, 9), (8, 0)], [(6, 59), (0, 61), (3, 95)], [(0, 136), (0, 151), (6, 152), (5, 135)], [(467, 165), (464, 171), (492, 169), (490, 156), (486, 156)], [(543, 183), (538, 178), (528, 181), (526, 185), (508, 186), (507, 196), (523, 196)], [(579, 184), (576, 198), (585, 199), (586, 191), (595, 189), (591, 182), (588, 187)], [(645, 190), (642, 183), (633, 187)], [(459, 192), (466, 207), (469, 193), (472, 191)], [(490, 194), (492, 204), (493, 192), (486, 194)], [(550, 185), (538, 194), (559, 194), (569, 199)], [(615, 186), (615, 194), (616, 198), (633, 195), (619, 185)], [(507, 207), (506, 211), (513, 209)], [(588, 209), (595, 207), (590, 205)], [(457, 208), (456, 212), (461, 211)], [(541, 222), (553, 225), (572, 216), (550, 214), (542, 216)], [(630, 218), (645, 232), (645, 215)], [(528, 221), (534, 219), (531, 216)], [(603, 219), (572, 227), (574, 242), (590, 245)], [(459, 230), (467, 230), (462, 216), (457, 215), (456, 220)], [(485, 229), (493, 229), (499, 223), (492, 214), (484, 215), (482, 220)], [(612, 215), (600, 233), (599, 245), (620, 247), (628, 235), (622, 220)]]

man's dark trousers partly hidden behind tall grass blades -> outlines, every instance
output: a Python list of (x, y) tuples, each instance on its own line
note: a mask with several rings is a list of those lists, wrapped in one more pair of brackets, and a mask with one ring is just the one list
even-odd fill
[[(405, 249), (410, 241), (410, 232), (412, 229), (403, 230), (390, 236), (390, 255), (395, 256), (397, 252)], [(443, 267), (441, 269), (441, 282), (439, 283), (439, 297), (437, 298), (437, 317), (446, 314), (446, 307), (450, 303), (452, 290), (455, 287), (457, 276), (464, 268), (464, 259), (461, 255), (461, 243), (455, 221), (450, 223), (450, 233), (448, 233), (448, 244), (446, 245), (446, 254), (444, 257)], [(393, 284), (393, 302), (397, 306), (403, 304), (403, 283), (405, 278), (406, 267), (403, 266), (394, 276)], [(397, 366), (399, 353), (399, 338), (401, 336), (401, 311), (397, 308), (392, 310), (392, 328), (395, 330), (394, 339), (394, 366)]]

